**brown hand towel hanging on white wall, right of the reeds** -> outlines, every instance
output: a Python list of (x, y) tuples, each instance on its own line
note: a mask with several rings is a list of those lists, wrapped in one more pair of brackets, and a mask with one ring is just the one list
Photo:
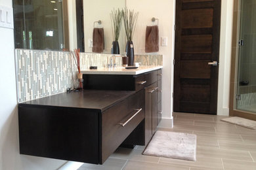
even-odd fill
[(145, 52), (159, 51), (158, 25), (146, 27)]

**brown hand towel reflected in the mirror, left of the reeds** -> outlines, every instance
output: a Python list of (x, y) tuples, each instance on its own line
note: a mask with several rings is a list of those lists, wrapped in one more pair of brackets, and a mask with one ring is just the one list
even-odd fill
[(95, 27), (93, 29), (93, 52), (104, 50), (104, 29)]

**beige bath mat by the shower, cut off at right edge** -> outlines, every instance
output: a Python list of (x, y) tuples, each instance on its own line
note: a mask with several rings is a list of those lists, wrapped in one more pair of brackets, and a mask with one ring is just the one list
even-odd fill
[(246, 127), (249, 129), (256, 129), (256, 121), (249, 120), (246, 118), (240, 118), (240, 117), (231, 117), (231, 118), (223, 118), (221, 119), (223, 122), (228, 122), (230, 124), (235, 124), (238, 126)]

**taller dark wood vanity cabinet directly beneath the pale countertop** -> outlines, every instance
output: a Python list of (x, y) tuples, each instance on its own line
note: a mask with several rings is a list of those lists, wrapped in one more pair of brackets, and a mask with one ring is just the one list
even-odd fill
[[(148, 144), (161, 121), (161, 69), (140, 75), (83, 75), (84, 88), (131, 90), (145, 93), (145, 120), (124, 141), (125, 145)], [(139, 134), (143, 134), (143, 139)]]

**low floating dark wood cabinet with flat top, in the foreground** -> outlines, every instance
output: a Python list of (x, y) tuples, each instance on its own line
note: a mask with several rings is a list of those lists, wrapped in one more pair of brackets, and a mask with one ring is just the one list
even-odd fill
[(20, 103), (20, 154), (102, 164), (144, 115), (142, 90), (84, 90)]

